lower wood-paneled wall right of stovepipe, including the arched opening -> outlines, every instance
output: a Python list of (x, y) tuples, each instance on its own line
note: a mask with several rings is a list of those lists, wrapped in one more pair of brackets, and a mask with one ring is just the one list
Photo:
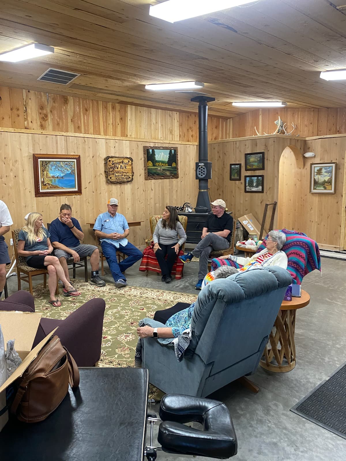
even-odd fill
[[(302, 169), (298, 169), (292, 150), (287, 146), (292, 146), (300, 155)], [(209, 160), (213, 162), (211, 196), (213, 199), (222, 197), (233, 210), (234, 217), (252, 213), (260, 223), (265, 203), (278, 201), (275, 227), (305, 232), (322, 248), (339, 249), (343, 247), (345, 227), (345, 204), (342, 204), (345, 150), (346, 136), (305, 141), (274, 135), (212, 142), (209, 144)], [(245, 153), (259, 151), (265, 152), (265, 170), (252, 174), (264, 175), (264, 193), (245, 193), (244, 176), (251, 175), (250, 171), (245, 171)], [(303, 163), (301, 155), (307, 151), (315, 152), (316, 157), (304, 158)], [(336, 193), (333, 195), (309, 192), (310, 163), (320, 161), (337, 162)], [(229, 180), (230, 163), (242, 164), (241, 181)], [(269, 220), (270, 216), (267, 226)]]

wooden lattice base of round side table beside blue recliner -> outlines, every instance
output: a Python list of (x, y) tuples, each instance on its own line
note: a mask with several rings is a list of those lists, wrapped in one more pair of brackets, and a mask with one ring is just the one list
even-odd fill
[[(296, 365), (296, 348), (294, 343), (294, 328), (296, 309), (279, 311), (274, 326), (275, 333), (270, 332), (270, 348), (266, 345), (260, 365), (271, 372), (289, 372)], [(280, 343), (280, 347), (278, 347)], [(273, 358), (276, 361), (271, 363)], [(286, 359), (287, 364), (283, 364)]]

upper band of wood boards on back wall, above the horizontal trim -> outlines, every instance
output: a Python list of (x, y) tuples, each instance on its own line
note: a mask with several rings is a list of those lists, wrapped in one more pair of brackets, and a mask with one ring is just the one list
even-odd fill
[[(165, 141), (198, 141), (198, 114), (127, 106), (0, 87), (0, 127), (90, 133)], [(208, 117), (209, 140), (227, 138), (227, 118)]]

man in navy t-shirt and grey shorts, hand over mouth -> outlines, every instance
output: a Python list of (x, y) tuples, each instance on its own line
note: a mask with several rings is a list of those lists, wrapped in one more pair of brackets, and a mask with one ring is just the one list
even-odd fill
[(104, 287), (106, 282), (99, 275), (100, 252), (95, 245), (84, 245), (79, 241), (84, 239), (84, 233), (77, 219), (72, 218), (72, 208), (67, 203), (60, 207), (60, 215), (52, 221), (49, 227), (50, 241), (54, 248), (54, 256), (59, 258), (65, 276), (70, 281), (66, 260), (73, 258), (78, 262), (80, 257), (90, 256), (90, 283)]

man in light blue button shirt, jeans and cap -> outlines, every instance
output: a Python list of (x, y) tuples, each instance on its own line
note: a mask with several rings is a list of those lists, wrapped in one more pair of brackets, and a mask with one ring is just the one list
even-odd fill
[[(130, 229), (125, 216), (117, 213), (118, 200), (109, 199), (107, 210), (106, 213), (101, 213), (97, 216), (94, 231), (95, 236), (101, 241), (102, 253), (106, 256), (115, 286), (121, 288), (127, 285), (124, 275), (125, 270), (140, 260), (143, 254), (126, 238), (130, 233)], [(119, 262), (119, 264), (116, 256), (117, 250), (127, 255), (127, 258)]]

